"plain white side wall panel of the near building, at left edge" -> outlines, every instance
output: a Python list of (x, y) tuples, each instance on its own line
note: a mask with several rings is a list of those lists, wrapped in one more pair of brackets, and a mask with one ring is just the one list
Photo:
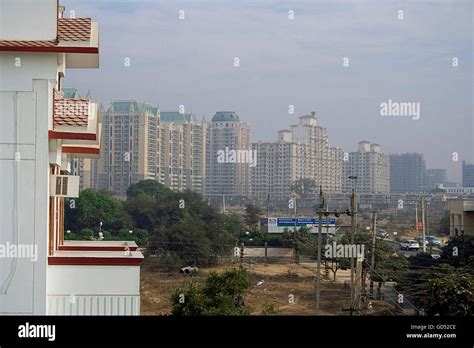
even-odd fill
[(30, 92), (0, 90), (0, 243), (37, 247), (37, 260), (0, 260), (0, 314), (46, 313), (47, 80)]

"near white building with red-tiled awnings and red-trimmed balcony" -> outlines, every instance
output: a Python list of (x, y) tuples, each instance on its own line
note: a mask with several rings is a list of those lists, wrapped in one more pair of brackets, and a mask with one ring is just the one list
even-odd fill
[(0, 314), (139, 314), (134, 243), (64, 240), (71, 160), (99, 156), (101, 123), (97, 104), (61, 89), (67, 68), (98, 67), (98, 24), (63, 12), (0, 0)]

